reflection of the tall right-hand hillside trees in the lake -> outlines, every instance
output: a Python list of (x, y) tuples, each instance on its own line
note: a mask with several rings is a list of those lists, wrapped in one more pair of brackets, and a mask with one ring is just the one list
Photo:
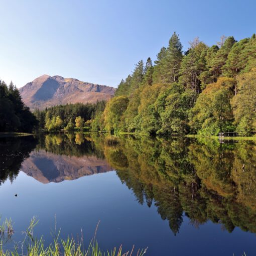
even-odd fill
[[(154, 199), (175, 234), (183, 212), (196, 226), (211, 220), (229, 232), (235, 226), (256, 232), (254, 143), (125, 139), (105, 152), (107, 159), (109, 152), (127, 159), (125, 167), (116, 167), (118, 176), (139, 203), (150, 207)], [(115, 161), (110, 160), (113, 167)]]

